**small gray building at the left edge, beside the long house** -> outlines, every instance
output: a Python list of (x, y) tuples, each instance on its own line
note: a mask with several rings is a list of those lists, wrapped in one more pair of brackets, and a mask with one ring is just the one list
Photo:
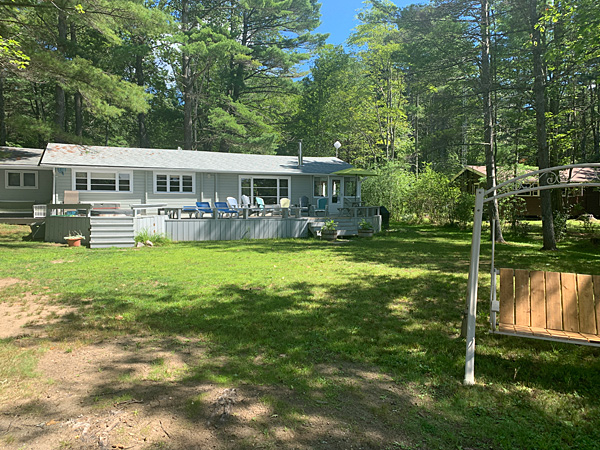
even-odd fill
[(52, 168), (38, 166), (42, 153), (0, 147), (0, 214), (31, 217), (34, 204), (52, 200)]

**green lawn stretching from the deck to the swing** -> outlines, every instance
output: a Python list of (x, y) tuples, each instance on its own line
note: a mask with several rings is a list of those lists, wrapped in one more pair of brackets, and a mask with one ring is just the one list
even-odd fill
[[(348, 381), (354, 368), (370, 367), (416, 399), (400, 412), (385, 398), (364, 405), (400, 427), (407, 442), (442, 449), (597, 448), (600, 351), (488, 335), (482, 300), (478, 384), (464, 387), (465, 343), (458, 335), (470, 232), (394, 228), (370, 240), (341, 243), (268, 240), (90, 250), (24, 242), (22, 229), (0, 225), (0, 278), (27, 282), (6, 287), (2, 295), (11, 301), (27, 290), (79, 308), (50, 330), (63, 343), (146, 335), (177, 336), (174, 351), (206, 347), (206, 357), (185, 370), (171, 370), (157, 359), (152, 379), (279, 386), (308, 402), (336, 407), (355, 389)], [(490, 247), (482, 245), (480, 299), (489, 296)], [(582, 234), (561, 243), (559, 252), (540, 247), (538, 237), (499, 245), (496, 266), (600, 273), (599, 249)], [(33, 373), (32, 357), (35, 352), (10, 340), (0, 342), (5, 366), (0, 378)], [(335, 372), (324, 375), (322, 365)], [(285, 399), (263, 401), (288, 426), (303, 420)], [(190, 416), (198, 414), (201, 402), (190, 400)], [(386, 448), (413, 447), (402, 441)]]

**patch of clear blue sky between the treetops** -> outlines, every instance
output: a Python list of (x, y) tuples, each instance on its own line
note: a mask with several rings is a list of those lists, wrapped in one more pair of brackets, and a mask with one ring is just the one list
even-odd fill
[[(392, 3), (401, 7), (426, 2), (427, 0), (392, 0)], [(343, 44), (352, 29), (358, 25), (355, 19), (357, 11), (364, 7), (363, 0), (321, 0), (321, 26), (316, 31), (330, 33), (327, 40), (329, 44)]]

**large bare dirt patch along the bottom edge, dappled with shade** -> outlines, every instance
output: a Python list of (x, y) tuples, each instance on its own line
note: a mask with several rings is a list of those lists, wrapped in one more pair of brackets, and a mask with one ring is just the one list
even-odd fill
[[(403, 443), (415, 408), (385, 375), (344, 363), (315, 367), (323, 392), (199, 381), (207, 358), (184, 338), (117, 338), (50, 347), (34, 394), (0, 403), (5, 449), (381, 449)], [(325, 387), (336, 386), (334, 389)], [(5, 387), (2, 398), (13, 389)], [(415, 410), (416, 413), (416, 410)], [(396, 443), (398, 447), (396, 447)]]

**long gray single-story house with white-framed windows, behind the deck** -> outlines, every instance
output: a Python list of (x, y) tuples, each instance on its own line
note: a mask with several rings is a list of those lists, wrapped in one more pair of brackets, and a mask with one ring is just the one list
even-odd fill
[[(333, 157), (272, 156), (187, 150), (48, 144), (40, 168), (53, 174), (52, 203), (78, 191), (81, 203), (194, 205), (248, 195), (267, 205), (328, 199), (335, 213), (344, 198), (360, 197), (356, 178), (334, 173), (352, 167)], [(50, 197), (47, 198), (49, 200)]]

